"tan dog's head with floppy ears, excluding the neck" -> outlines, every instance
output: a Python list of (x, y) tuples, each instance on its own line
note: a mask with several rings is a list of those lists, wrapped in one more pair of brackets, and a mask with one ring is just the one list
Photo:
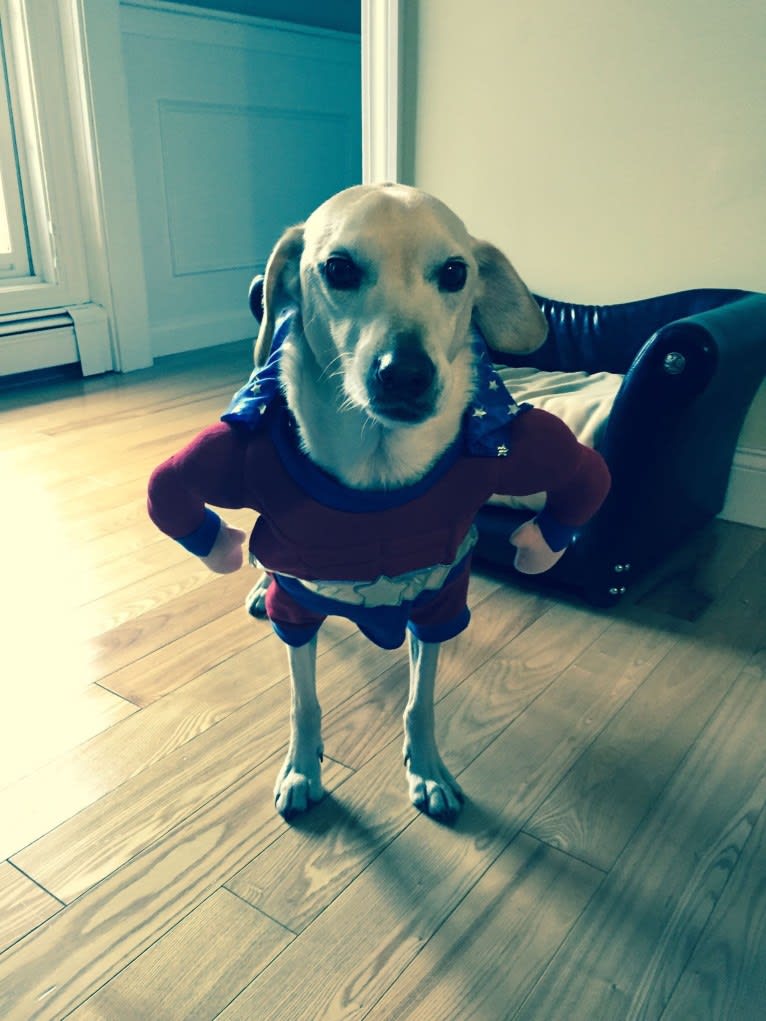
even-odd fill
[(287, 305), (319, 371), (389, 426), (424, 422), (470, 387), (472, 318), (497, 351), (532, 351), (546, 332), (505, 255), (401, 185), (349, 188), (285, 232), (267, 264), (256, 364)]

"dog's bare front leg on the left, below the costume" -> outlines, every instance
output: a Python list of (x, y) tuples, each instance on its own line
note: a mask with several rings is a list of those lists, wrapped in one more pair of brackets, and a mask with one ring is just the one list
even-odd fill
[(317, 637), (294, 648), (290, 662), (290, 747), (277, 777), (274, 801), (285, 819), (321, 800), (322, 710), (317, 698)]

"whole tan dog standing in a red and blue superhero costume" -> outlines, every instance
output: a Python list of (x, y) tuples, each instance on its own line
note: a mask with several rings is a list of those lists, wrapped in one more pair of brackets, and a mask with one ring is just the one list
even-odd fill
[(538, 573), (609, 485), (599, 454), (515, 405), (492, 374), (484, 342), (524, 354), (546, 329), (508, 258), (444, 203), (401, 185), (347, 189), (276, 244), (255, 372), (223, 422), (153, 473), (150, 516), (212, 571), (241, 566), (246, 536), (208, 504), (259, 512), (256, 596), (291, 679), (275, 786), (285, 818), (323, 796), (316, 634), (333, 613), (384, 647), (406, 629), (410, 798), (457, 818), (464, 793), (437, 747), (434, 688), (440, 645), (468, 624), (473, 517), (492, 491), (546, 490), (546, 509), (510, 536), (519, 570)]

